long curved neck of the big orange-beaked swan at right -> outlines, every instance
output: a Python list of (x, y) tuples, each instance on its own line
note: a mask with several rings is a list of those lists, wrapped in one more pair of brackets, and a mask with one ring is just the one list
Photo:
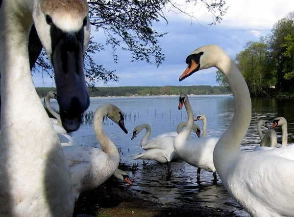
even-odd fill
[[(215, 65), (226, 77), (234, 95), (234, 116), (229, 128), (223, 133), (214, 150), (214, 159), (223, 161), (240, 152), (240, 144), (245, 137), (251, 120), (251, 99), (247, 84), (232, 59), (221, 50), (221, 59)], [(224, 157), (225, 156), (225, 157)], [(225, 164), (225, 162), (223, 162)], [(221, 164), (220, 164), (221, 165)], [(225, 165), (224, 165), (225, 166)]]

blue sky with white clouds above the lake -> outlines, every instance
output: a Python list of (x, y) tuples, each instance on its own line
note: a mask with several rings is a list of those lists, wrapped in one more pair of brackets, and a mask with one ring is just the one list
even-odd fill
[[(177, 0), (180, 2), (181, 0)], [(119, 77), (118, 82), (97, 82), (96, 87), (123, 87), (123, 86), (188, 86), (210, 85), (219, 86), (216, 83), (216, 68), (200, 70), (197, 76), (181, 82), (179, 76), (186, 68), (186, 57), (196, 48), (217, 44), (235, 59), (236, 54), (244, 50), (249, 41), (259, 41), (261, 36), (267, 36), (273, 25), (284, 18), (287, 13), (294, 11), (294, 0), (225, 0), (228, 6), (227, 13), (221, 23), (208, 27), (211, 23), (211, 15), (203, 6), (189, 7), (197, 19), (191, 19), (182, 14), (171, 11), (165, 12), (169, 21), (154, 23), (156, 31), (167, 34), (159, 39), (165, 61), (157, 67), (145, 62), (131, 62), (130, 54), (118, 49), (119, 62), (115, 63), (112, 57), (111, 47), (95, 55), (97, 63), (107, 70), (115, 70)], [(197, 6), (197, 5), (196, 5)], [(92, 28), (92, 36), (98, 42), (104, 42), (102, 33), (95, 32)], [(55, 87), (46, 73), (33, 73), (35, 87)]]

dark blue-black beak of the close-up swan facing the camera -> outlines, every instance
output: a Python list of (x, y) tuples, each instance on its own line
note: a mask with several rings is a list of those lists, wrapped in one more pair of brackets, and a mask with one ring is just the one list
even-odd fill
[(90, 98), (83, 70), (84, 30), (64, 33), (51, 27), (52, 54), (60, 117), (67, 131), (77, 130), (82, 113), (88, 109)]

